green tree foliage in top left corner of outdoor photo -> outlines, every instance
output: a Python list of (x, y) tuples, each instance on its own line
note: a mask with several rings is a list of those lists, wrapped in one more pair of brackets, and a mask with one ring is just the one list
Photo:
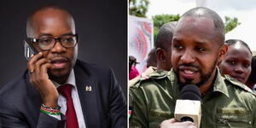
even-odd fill
[(146, 17), (148, 0), (129, 0), (129, 14), (137, 17)]

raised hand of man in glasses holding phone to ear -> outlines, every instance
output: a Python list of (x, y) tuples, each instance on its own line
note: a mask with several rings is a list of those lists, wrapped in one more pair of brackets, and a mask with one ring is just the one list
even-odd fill
[(39, 52), (28, 61), (27, 67), (30, 73), (30, 83), (38, 90), (44, 105), (57, 108), (59, 93), (47, 73), (48, 68), (51, 67), (50, 61), (43, 57), (42, 52)]

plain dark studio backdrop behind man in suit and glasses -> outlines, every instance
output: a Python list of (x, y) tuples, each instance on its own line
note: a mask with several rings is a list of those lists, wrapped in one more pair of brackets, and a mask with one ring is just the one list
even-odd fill
[(0, 88), (26, 70), (23, 39), (26, 18), (45, 4), (73, 15), (79, 33), (79, 59), (113, 68), (127, 92), (127, 2), (125, 0), (0, 1)]

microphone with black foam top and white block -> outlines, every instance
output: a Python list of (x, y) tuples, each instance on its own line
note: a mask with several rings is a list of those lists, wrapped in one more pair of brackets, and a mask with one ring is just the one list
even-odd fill
[(197, 128), (201, 123), (201, 92), (195, 84), (187, 84), (181, 90), (181, 99), (176, 101), (174, 118), (191, 121)]

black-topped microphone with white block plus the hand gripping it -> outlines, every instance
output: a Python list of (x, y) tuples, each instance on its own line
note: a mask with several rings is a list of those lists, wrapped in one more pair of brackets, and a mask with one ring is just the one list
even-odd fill
[(201, 122), (201, 92), (194, 84), (185, 85), (177, 100), (175, 119), (164, 120), (160, 128), (199, 128)]

